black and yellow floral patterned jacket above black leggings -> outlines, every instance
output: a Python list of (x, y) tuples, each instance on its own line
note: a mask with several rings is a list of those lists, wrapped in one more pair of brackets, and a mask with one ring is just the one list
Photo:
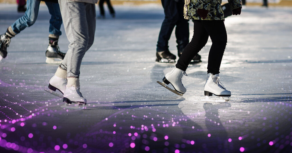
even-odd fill
[[(228, 0), (231, 10), (242, 8), (240, 0)], [(185, 0), (184, 16), (188, 20), (224, 20), (222, 0)], [(205, 19), (197, 13), (198, 8), (208, 10)]]

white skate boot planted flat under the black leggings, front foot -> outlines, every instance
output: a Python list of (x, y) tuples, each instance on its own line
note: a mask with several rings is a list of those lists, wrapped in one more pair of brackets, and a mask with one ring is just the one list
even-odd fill
[(216, 96), (231, 96), (231, 92), (226, 90), (219, 78), (219, 74), (208, 73), (204, 86), (205, 96), (212, 96), (212, 94)]

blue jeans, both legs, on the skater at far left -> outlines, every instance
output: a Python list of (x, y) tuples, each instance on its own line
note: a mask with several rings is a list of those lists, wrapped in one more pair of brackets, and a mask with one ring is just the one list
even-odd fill
[[(11, 24), (12, 30), (15, 34), (20, 33), (26, 27), (30, 27), (36, 21), (37, 15), (39, 13), (39, 0), (27, 0), (27, 10), (24, 16), (17, 19), (13, 24)], [(62, 24), (62, 16), (60, 12), (60, 7), (58, 3), (46, 2), (46, 5), (51, 14), (49, 33), (60, 36), (62, 32), (60, 31)]]

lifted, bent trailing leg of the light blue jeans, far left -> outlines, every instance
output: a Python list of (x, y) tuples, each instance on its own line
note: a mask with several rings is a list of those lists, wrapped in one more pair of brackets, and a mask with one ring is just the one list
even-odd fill
[(37, 15), (39, 13), (39, 4), (41, 1), (38, 0), (27, 0), (27, 10), (24, 16), (17, 19), (13, 24), (11, 24), (12, 30), (15, 34), (20, 33), (26, 27), (30, 27), (36, 21)]

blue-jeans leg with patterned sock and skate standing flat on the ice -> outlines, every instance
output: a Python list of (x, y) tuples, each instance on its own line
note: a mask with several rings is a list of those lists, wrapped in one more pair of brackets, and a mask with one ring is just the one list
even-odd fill
[(59, 36), (62, 34), (62, 32), (60, 31), (62, 24), (60, 6), (58, 3), (45, 3), (48, 7), (49, 13), (51, 14), (49, 27), (49, 44), (48, 48), (46, 49), (46, 63), (60, 64), (65, 57), (65, 53), (60, 52), (60, 48), (58, 46)]

